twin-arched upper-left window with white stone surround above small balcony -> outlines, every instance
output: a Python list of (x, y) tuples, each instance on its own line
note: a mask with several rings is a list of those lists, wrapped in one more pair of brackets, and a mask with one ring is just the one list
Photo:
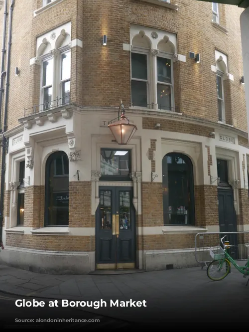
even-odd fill
[(36, 61), (41, 67), (39, 111), (70, 102), (70, 33), (71, 22), (68, 22), (37, 38)]

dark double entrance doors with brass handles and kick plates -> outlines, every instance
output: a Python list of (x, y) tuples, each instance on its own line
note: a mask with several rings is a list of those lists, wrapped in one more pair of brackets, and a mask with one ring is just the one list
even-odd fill
[(97, 269), (135, 267), (132, 187), (100, 187), (96, 212)]

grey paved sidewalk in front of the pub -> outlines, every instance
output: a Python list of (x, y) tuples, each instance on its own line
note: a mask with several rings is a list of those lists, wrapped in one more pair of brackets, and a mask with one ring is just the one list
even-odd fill
[[(222, 315), (230, 306), (239, 310), (249, 303), (247, 279), (235, 269), (223, 281), (212, 282), (206, 269), (189, 268), (124, 275), (61, 276), (28, 272), (0, 265), (0, 291), (31, 298), (67, 299), (81, 301), (121, 300), (147, 301), (147, 308), (81, 308), (114, 318), (151, 322), (184, 311), (186, 316), (211, 313), (212, 319)], [(125, 309), (125, 310), (124, 310)], [(232, 312), (231, 312), (232, 314)], [(204, 315), (204, 314), (203, 314)], [(204, 319), (204, 318), (203, 318)]]

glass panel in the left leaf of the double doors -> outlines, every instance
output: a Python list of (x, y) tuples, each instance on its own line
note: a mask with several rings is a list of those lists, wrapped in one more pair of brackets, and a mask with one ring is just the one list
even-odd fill
[(100, 214), (101, 229), (112, 229), (112, 192), (101, 190), (100, 192)]

